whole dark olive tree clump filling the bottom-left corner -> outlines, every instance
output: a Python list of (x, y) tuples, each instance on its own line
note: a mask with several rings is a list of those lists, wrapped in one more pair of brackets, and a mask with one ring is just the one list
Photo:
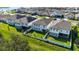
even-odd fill
[(1, 40), (0, 51), (28, 51), (29, 45), (25, 38), (20, 35), (11, 34), (11, 40)]

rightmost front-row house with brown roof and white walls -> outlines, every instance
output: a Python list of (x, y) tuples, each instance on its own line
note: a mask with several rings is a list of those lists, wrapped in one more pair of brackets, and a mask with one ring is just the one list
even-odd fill
[(56, 20), (51, 24), (49, 35), (55, 37), (69, 37), (71, 24), (66, 20)]

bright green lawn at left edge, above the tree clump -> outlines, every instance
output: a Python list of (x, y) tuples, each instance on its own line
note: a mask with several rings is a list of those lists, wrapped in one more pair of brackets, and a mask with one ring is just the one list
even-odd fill
[(0, 33), (3, 35), (4, 39), (9, 40), (11, 32), (17, 32), (17, 30), (8, 24), (0, 23)]

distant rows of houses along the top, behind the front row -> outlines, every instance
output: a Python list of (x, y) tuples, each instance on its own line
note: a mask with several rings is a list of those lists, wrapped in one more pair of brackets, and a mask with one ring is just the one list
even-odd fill
[(16, 9), (17, 13), (31, 13), (32, 15), (45, 15), (45, 16), (54, 16), (54, 17), (64, 17), (69, 19), (79, 19), (79, 8), (78, 7), (36, 7), (36, 8), (18, 8)]

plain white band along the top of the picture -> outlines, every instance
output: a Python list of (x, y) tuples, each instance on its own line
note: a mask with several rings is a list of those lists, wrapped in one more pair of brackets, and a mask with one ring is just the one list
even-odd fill
[(1, 0), (0, 6), (79, 6), (79, 0)]

